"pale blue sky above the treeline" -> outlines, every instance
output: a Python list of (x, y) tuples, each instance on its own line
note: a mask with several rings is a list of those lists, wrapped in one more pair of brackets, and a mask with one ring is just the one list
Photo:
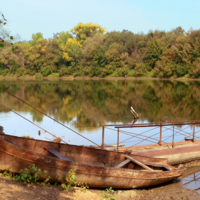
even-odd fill
[(0, 0), (0, 12), (8, 20), (6, 29), (21, 40), (33, 33), (44, 38), (69, 31), (79, 22), (99, 24), (107, 31), (147, 33), (170, 31), (178, 26), (200, 29), (199, 0)]

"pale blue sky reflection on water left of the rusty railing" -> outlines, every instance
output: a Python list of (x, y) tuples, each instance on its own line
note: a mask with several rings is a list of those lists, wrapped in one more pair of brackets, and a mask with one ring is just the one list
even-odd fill
[[(20, 112), (23, 117), (26, 117), (30, 121), (32, 121), (32, 116), (28, 113)], [(41, 135), (38, 135), (38, 131), (40, 130), (38, 127), (34, 126), (30, 122), (20, 118), (14, 113), (0, 113), (1, 125), (4, 127), (4, 132), (9, 135), (15, 136), (30, 136), (34, 137), (35, 139), (40, 140), (48, 140), (46, 138), (52, 139), (52, 136), (44, 131), (41, 131)], [(35, 124), (39, 125), (40, 127), (44, 128), (45, 130), (49, 131), (50, 133), (55, 134), (57, 137), (61, 137), (64, 141), (70, 144), (77, 144), (77, 145), (91, 145), (91, 143), (84, 138), (76, 135), (75, 133), (71, 132), (70, 130), (66, 129), (65, 127), (59, 125), (57, 122), (49, 119), (48, 117), (44, 117), (42, 122), (36, 122)], [(65, 123), (65, 125), (70, 127), (70, 124)], [(70, 127), (73, 128), (74, 127)], [(91, 132), (93, 133), (93, 132)], [(82, 134), (92, 141), (99, 143), (101, 141), (101, 129), (95, 131), (95, 134), (82, 132)]]

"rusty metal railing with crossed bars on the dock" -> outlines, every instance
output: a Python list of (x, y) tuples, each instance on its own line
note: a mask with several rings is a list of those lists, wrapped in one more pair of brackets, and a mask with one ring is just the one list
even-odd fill
[[(126, 142), (132, 142), (133, 146), (141, 144), (171, 144), (175, 147), (176, 142), (200, 140), (200, 120), (193, 121), (177, 121), (177, 122), (157, 122), (157, 123), (141, 123), (141, 124), (109, 124), (102, 125), (102, 144), (101, 148), (104, 149), (105, 145), (105, 132), (106, 130), (114, 131), (117, 133), (117, 151), (119, 145)], [(126, 130), (125, 130), (126, 129)], [(159, 130), (158, 130), (159, 129)], [(120, 134), (126, 135), (124, 140), (120, 141)], [(133, 141), (130, 141), (134, 139)]]

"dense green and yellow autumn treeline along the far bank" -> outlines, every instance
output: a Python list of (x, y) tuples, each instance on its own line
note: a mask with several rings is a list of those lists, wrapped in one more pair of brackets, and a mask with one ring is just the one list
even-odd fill
[(134, 34), (79, 23), (51, 39), (5, 42), (0, 61), (1, 76), (200, 78), (200, 30)]

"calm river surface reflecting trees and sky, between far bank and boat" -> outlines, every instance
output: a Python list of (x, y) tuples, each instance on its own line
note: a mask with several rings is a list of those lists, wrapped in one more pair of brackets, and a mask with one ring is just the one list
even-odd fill
[[(133, 123), (131, 106), (140, 115), (137, 123), (200, 119), (198, 81), (1, 80), (1, 82), (8, 87), (10, 93), (97, 144), (101, 144), (102, 141), (100, 125)], [(0, 92), (0, 102), (70, 144), (92, 145), (90, 141), (5, 92)], [(0, 120), (0, 125), (4, 127), (6, 134), (53, 140), (51, 135), (2, 106), (0, 106)], [(191, 132), (192, 127), (188, 127), (187, 131)], [(169, 135), (171, 132), (166, 134)], [(126, 139), (127, 135), (120, 135), (120, 141)], [(180, 138), (177, 136), (175, 140), (179, 141)], [(115, 144), (116, 141), (116, 132), (106, 130), (105, 143)], [(136, 138), (124, 142), (126, 146), (136, 143)], [(199, 173), (195, 172), (184, 178), (183, 185), (199, 191)]]

